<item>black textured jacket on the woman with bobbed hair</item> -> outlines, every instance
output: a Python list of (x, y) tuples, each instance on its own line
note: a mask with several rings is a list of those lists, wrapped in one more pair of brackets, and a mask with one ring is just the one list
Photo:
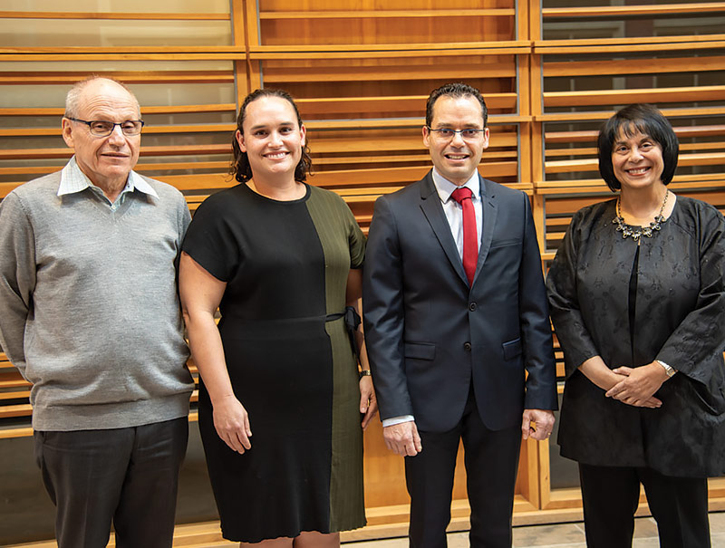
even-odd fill
[[(662, 230), (642, 238), (635, 263), (638, 245), (616, 232), (615, 203), (575, 214), (547, 276), (565, 359), (561, 453), (597, 466), (650, 466), (669, 476), (720, 475), (725, 219), (715, 207), (678, 197)], [(577, 369), (596, 355), (611, 369), (658, 359), (679, 373), (655, 394), (662, 408), (635, 408), (605, 398)]]

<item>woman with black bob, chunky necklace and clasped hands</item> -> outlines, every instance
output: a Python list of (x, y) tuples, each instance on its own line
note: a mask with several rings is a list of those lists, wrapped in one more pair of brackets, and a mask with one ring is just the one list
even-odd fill
[(644, 486), (663, 548), (710, 546), (725, 470), (725, 220), (667, 185), (679, 144), (651, 105), (599, 133), (619, 197), (584, 207), (546, 284), (564, 351), (561, 454), (579, 463), (586, 543), (632, 545)]

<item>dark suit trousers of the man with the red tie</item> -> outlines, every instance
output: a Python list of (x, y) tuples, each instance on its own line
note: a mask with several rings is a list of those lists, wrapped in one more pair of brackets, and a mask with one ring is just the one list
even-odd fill
[(521, 428), (486, 428), (471, 389), (456, 428), (419, 433), (423, 450), (415, 457), (405, 457), (405, 481), (411, 495), (411, 548), (448, 545), (446, 527), (460, 439), (471, 509), (470, 546), (510, 548)]

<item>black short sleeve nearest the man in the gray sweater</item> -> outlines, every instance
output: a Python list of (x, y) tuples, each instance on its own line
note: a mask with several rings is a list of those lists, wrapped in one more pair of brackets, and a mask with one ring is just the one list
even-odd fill
[(208, 197), (194, 214), (181, 250), (222, 282), (237, 272), (240, 245), (234, 236), (234, 212), (226, 191)]

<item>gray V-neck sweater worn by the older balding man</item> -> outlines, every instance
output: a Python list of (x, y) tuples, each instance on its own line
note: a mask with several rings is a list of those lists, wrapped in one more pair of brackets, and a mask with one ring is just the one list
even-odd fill
[(59, 197), (61, 172), (0, 204), (0, 344), (33, 383), (36, 430), (189, 412), (175, 267), (189, 209), (175, 188), (142, 179), (158, 197), (137, 188), (115, 210), (90, 187)]

